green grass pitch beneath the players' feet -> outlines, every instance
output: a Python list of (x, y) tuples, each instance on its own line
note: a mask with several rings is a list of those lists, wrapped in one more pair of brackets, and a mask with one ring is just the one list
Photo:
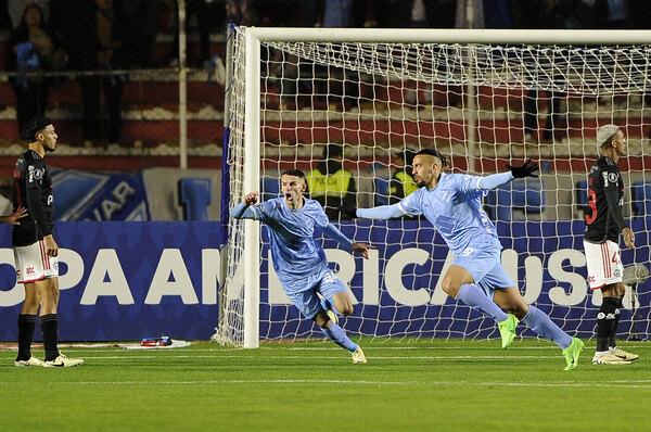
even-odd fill
[[(68, 348), (76, 368), (16, 368), (0, 352), (1, 431), (648, 430), (651, 344), (629, 366), (563, 372), (548, 342), (359, 341), (232, 350)], [(42, 357), (42, 351), (35, 351)], [(616, 428), (615, 428), (616, 425)]]

